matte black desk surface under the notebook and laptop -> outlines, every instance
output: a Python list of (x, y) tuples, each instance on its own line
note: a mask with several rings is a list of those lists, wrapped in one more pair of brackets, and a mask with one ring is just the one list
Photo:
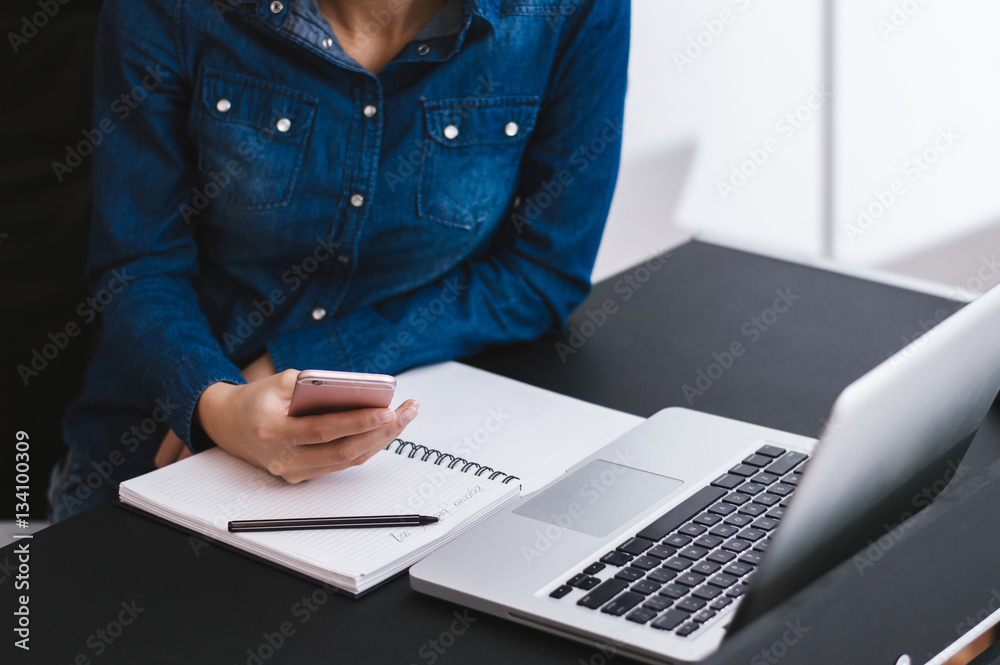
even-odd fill
[[(779, 292), (782, 313), (773, 311)], [(598, 285), (560, 338), (470, 362), (643, 416), (688, 406), (813, 436), (844, 386), (920, 333), (921, 322), (955, 308), (694, 242)], [(722, 357), (734, 342), (742, 355), (721, 373), (710, 369), (719, 361), (713, 354)], [(698, 385), (699, 370), (714, 375), (711, 385)], [(685, 384), (701, 394), (685, 394)], [(989, 521), (1000, 503), (1000, 482), (991, 482), (1000, 475), (991, 466), (1000, 457), (998, 419), (977, 438), (967, 458), (972, 471), (949, 488), (949, 500), (925, 511), (928, 518), (906, 530), (864, 583), (847, 562), (739, 633), (712, 662), (754, 662), (792, 619), (810, 631), (782, 650), (782, 663), (891, 665), (904, 652), (921, 663), (955, 639), (964, 617), (991, 607), (991, 593), (1000, 599), (1000, 567), (991, 565), (1000, 529)], [(987, 527), (973, 527), (973, 519)], [(11, 647), (17, 561), (13, 546), (0, 550), (4, 648), (13, 653), (4, 662), (626, 662), (418, 595), (405, 576), (358, 601), (328, 594), (113, 506), (30, 542), (30, 654)], [(942, 573), (946, 564), (961, 574)]]

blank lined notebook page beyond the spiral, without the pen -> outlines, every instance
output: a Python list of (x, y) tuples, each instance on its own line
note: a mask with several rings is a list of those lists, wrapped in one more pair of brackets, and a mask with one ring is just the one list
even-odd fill
[(394, 407), (420, 402), (400, 438), (515, 475), (525, 494), (643, 421), (455, 362), (411, 370), (396, 382)]

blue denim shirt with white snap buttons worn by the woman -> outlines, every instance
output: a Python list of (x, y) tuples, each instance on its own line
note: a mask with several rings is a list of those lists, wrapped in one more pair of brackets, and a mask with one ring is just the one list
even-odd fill
[(264, 352), (395, 373), (557, 331), (586, 295), (628, 3), (459, 16), (376, 76), (315, 0), (105, 2), (90, 280), (107, 295), (65, 436), (112, 483), (151, 469), (168, 428), (212, 445), (201, 392)]

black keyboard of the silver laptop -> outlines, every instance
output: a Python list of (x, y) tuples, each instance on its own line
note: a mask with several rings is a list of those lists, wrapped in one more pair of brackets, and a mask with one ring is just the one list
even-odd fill
[(695, 634), (745, 592), (807, 459), (761, 447), (549, 596), (578, 598), (580, 607), (680, 637)]

